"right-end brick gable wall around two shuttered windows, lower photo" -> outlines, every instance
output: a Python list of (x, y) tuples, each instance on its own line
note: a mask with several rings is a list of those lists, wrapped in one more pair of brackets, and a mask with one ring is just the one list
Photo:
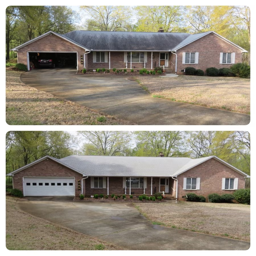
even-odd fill
[[(183, 190), (183, 178), (200, 177), (199, 190)], [(233, 191), (222, 190), (222, 178), (238, 178), (238, 189), (244, 188), (245, 178), (238, 172), (235, 172), (228, 166), (218, 162), (215, 159), (207, 160), (198, 166), (191, 168), (187, 172), (179, 175), (178, 180), (178, 199), (182, 199), (187, 193), (195, 193), (207, 197), (211, 193), (224, 194), (233, 193)]]

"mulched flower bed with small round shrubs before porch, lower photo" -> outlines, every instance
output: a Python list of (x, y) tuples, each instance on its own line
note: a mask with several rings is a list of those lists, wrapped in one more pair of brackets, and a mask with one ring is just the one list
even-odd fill
[(103, 195), (103, 194), (95, 194), (90, 197), (80, 195), (79, 197), (74, 197), (74, 201), (93, 201), (93, 202), (136, 202), (136, 203), (160, 203), (166, 202), (162, 197), (154, 197), (154, 196), (133, 196), (133, 195)]

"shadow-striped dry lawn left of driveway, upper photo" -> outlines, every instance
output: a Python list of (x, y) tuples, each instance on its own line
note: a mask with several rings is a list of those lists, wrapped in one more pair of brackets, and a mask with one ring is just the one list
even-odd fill
[(9, 125), (131, 125), (27, 86), (20, 81), (21, 73), (6, 70), (6, 122)]

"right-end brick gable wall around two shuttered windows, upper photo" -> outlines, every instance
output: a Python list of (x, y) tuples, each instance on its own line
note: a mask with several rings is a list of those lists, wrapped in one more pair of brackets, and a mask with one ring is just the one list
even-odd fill
[[(198, 64), (182, 64), (183, 52), (199, 52)], [(194, 67), (206, 71), (209, 67), (229, 68), (232, 64), (220, 64), (220, 52), (235, 52), (235, 63), (241, 62), (242, 53), (236, 47), (213, 34), (208, 34), (195, 42), (177, 50), (177, 74), (186, 67)], [(173, 62), (175, 64), (175, 62)]]

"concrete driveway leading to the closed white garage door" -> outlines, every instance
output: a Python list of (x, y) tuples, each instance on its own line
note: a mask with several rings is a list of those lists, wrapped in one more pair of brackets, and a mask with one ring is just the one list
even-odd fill
[(25, 197), (24, 212), (129, 250), (247, 250), (249, 242), (152, 225), (131, 203)]

